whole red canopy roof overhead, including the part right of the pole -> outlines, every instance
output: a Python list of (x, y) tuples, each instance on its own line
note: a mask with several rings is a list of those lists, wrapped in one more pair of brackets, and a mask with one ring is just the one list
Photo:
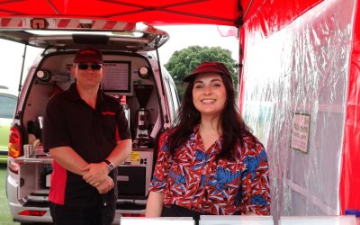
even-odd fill
[(152, 25), (238, 26), (243, 19), (251, 18), (261, 10), (264, 19), (276, 23), (275, 27), (282, 27), (319, 2), (321, 0), (7, 0), (0, 2), (0, 17), (72, 17)]

